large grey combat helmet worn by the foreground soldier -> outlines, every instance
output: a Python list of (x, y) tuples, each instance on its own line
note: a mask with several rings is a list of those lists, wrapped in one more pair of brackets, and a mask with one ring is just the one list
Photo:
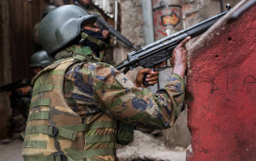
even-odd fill
[(66, 5), (57, 7), (44, 17), (39, 26), (39, 41), (50, 57), (72, 40), (76, 39), (81, 31), (81, 24), (85, 20), (97, 20), (81, 7)]

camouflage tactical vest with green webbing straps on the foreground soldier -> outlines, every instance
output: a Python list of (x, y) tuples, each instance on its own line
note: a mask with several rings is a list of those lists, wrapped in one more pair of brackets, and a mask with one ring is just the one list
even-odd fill
[[(78, 60), (58, 60), (33, 79), (34, 90), (27, 127), (24, 132), (22, 156), (25, 161), (85, 160), (95, 155), (113, 155), (115, 149), (84, 150), (85, 142), (99, 138), (86, 137), (88, 130), (117, 128), (113, 121), (82, 124), (64, 98), (64, 74)], [(116, 138), (101, 136), (101, 141)]]

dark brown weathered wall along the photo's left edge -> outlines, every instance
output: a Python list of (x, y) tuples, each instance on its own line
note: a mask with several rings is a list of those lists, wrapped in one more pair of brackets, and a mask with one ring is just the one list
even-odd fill
[[(35, 52), (33, 27), (40, 19), (43, 0), (4, 0), (0, 5), (0, 86), (31, 77), (30, 56)], [(0, 140), (10, 137), (12, 111), (5, 92), (0, 93)]]

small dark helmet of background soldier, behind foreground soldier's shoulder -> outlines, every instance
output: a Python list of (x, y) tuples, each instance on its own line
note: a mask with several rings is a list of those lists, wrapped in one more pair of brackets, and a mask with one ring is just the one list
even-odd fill
[(45, 50), (37, 51), (35, 54), (32, 55), (30, 59), (29, 66), (30, 67), (47, 67), (54, 59), (50, 58), (47, 55)]

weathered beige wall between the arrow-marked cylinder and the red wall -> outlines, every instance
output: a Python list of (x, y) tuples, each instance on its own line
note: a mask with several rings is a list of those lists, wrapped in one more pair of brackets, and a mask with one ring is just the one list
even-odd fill
[[(179, 4), (178, 1), (171, 2)], [(184, 29), (220, 13), (220, 1), (217, 0), (182, 0), (180, 2), (180, 5), (182, 5)], [(238, 0), (233, 0), (232, 2), (223, 1), (223, 4), (230, 3), (234, 7), (238, 2)], [(226, 8), (223, 7), (223, 10), (226, 10)], [(192, 39), (188, 45), (192, 46), (192, 42), (198, 37)], [(170, 76), (168, 72), (170, 71), (170, 69), (167, 69), (160, 74), (160, 87), (164, 87), (168, 82)], [(164, 144), (171, 148), (176, 146), (187, 147), (191, 143), (190, 135), (191, 133), (187, 127), (187, 111), (184, 111), (179, 115), (173, 127), (164, 130)]]

